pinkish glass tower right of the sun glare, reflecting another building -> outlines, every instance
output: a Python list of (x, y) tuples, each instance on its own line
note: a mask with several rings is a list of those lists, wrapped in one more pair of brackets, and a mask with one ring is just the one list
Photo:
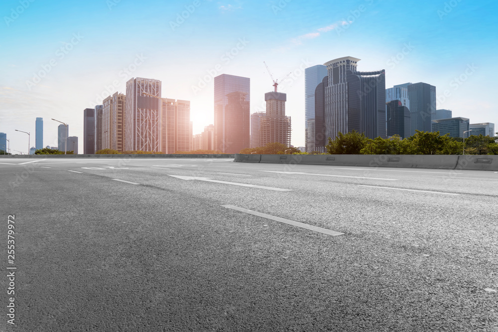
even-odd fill
[(239, 153), (250, 146), (250, 79), (222, 74), (214, 82), (215, 150)]

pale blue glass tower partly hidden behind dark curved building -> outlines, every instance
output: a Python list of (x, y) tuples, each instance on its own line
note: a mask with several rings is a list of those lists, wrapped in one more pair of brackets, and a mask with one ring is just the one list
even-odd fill
[(315, 90), (326, 77), (327, 67), (324, 65), (316, 65), (304, 70), (306, 152), (315, 150)]

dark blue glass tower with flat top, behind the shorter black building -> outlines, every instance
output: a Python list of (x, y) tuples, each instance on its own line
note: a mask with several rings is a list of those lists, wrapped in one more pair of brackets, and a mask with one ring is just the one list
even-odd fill
[(410, 100), (411, 135), (415, 130), (432, 131), (436, 119), (436, 87), (427, 83), (408, 84)]

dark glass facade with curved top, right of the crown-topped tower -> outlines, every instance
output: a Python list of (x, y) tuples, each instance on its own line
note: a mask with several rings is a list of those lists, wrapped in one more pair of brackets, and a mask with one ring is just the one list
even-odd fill
[(347, 71), (348, 132), (369, 138), (386, 137), (385, 71)]

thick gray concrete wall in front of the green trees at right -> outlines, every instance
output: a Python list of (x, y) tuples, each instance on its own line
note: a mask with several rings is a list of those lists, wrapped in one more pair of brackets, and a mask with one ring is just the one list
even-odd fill
[(498, 171), (495, 155), (236, 154), (236, 162)]

